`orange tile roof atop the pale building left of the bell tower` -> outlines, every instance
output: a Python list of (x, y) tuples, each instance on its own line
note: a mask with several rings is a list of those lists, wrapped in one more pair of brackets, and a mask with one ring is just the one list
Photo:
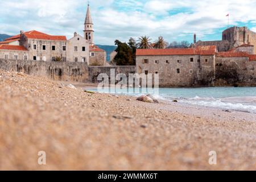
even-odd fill
[[(28, 39), (67, 40), (66, 36), (48, 35), (48, 34), (44, 34), (42, 32), (35, 31), (35, 30), (24, 32), (24, 35), (26, 35)], [(13, 40), (13, 39), (19, 39), (19, 38), (20, 38), (20, 34), (12, 36), (11, 38), (8, 38), (5, 40)]]

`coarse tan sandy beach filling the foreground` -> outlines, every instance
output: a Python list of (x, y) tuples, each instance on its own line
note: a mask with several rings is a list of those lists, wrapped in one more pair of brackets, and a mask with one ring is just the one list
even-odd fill
[(66, 85), (0, 70), (1, 170), (256, 170), (255, 114)]

